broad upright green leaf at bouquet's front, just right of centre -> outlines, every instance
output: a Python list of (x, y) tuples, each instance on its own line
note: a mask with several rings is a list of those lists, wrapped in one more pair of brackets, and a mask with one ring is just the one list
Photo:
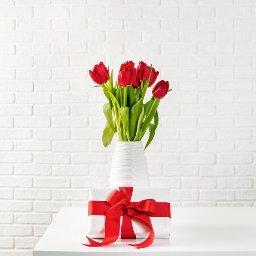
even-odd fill
[(131, 112), (130, 112), (130, 118), (129, 118), (129, 134), (130, 134), (130, 140), (133, 141), (136, 135), (137, 130), (137, 124), (139, 115), (143, 111), (143, 101), (140, 99), (137, 103), (135, 103), (132, 106)]

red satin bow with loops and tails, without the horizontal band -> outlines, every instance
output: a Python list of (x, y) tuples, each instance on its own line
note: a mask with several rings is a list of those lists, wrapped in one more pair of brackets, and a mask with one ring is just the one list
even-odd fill
[(130, 202), (132, 190), (132, 187), (120, 187), (119, 191), (115, 189), (115, 191), (111, 193), (107, 200), (111, 205), (111, 208), (106, 211), (105, 237), (103, 241), (99, 243), (87, 236), (90, 245), (86, 246), (97, 247), (115, 242), (119, 236), (121, 216), (124, 216), (121, 224), (121, 238), (136, 238), (131, 218), (140, 220), (140, 222), (150, 228), (150, 234), (144, 242), (136, 245), (128, 245), (137, 246), (137, 248), (144, 248), (153, 243), (155, 233), (149, 216), (155, 215), (156, 202), (153, 199), (146, 199), (140, 202)]

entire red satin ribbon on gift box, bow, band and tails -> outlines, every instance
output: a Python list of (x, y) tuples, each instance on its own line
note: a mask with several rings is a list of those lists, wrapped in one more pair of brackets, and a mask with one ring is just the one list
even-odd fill
[(121, 216), (124, 216), (121, 224), (121, 238), (123, 239), (136, 238), (132, 227), (132, 218), (139, 220), (150, 229), (150, 234), (144, 242), (128, 245), (144, 248), (153, 243), (155, 233), (149, 216), (171, 218), (170, 203), (155, 202), (153, 199), (130, 202), (132, 191), (132, 187), (120, 187), (119, 191), (115, 189), (115, 191), (111, 193), (107, 201), (89, 202), (89, 215), (106, 215), (105, 237), (103, 241), (99, 243), (87, 236), (90, 244), (83, 245), (97, 247), (115, 242), (119, 236)]

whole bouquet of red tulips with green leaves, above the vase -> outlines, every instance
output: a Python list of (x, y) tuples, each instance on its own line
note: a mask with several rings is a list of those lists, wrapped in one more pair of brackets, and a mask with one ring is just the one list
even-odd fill
[[(119, 141), (140, 141), (149, 128), (149, 138), (145, 148), (155, 135), (158, 124), (157, 107), (169, 90), (168, 81), (159, 81), (152, 90), (152, 98), (143, 103), (147, 89), (152, 86), (159, 74), (154, 67), (140, 62), (137, 68), (132, 61), (120, 67), (117, 81), (113, 83), (113, 70), (100, 62), (89, 70), (92, 80), (101, 87), (108, 99), (103, 105), (107, 123), (103, 130), (103, 145), (108, 146), (115, 133)], [(151, 121), (154, 119), (154, 124)]]

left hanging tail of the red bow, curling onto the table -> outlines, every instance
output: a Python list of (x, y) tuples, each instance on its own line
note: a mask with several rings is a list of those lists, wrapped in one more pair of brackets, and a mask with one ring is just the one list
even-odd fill
[(88, 236), (87, 239), (89, 241), (89, 245), (82, 244), (89, 247), (97, 247), (101, 245), (108, 245), (113, 243), (117, 240), (120, 231), (120, 210), (108, 211), (106, 213), (106, 220), (105, 220), (105, 237), (101, 243), (92, 240)]

